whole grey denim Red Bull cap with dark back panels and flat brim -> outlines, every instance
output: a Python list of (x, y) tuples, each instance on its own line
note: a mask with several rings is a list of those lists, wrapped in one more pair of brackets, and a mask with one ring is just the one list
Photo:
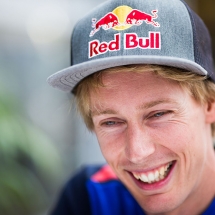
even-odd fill
[(71, 66), (48, 83), (72, 92), (97, 71), (129, 64), (182, 68), (215, 82), (208, 29), (183, 0), (108, 0), (76, 24)]

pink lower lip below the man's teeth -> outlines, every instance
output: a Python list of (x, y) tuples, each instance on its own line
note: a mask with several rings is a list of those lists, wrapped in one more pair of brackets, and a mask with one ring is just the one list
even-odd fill
[(145, 191), (153, 191), (153, 190), (158, 190), (158, 189), (161, 189), (163, 187), (165, 187), (172, 175), (173, 175), (173, 172), (174, 172), (174, 169), (175, 169), (175, 166), (176, 166), (176, 161), (172, 161), (172, 167), (168, 173), (168, 175), (161, 181), (158, 181), (158, 182), (155, 182), (155, 183), (152, 183), (152, 184), (149, 184), (149, 183), (145, 183), (145, 182), (142, 182), (140, 180), (137, 180), (133, 174), (131, 172), (129, 172), (129, 174), (131, 175), (133, 181), (135, 182), (135, 184), (142, 190), (145, 190)]

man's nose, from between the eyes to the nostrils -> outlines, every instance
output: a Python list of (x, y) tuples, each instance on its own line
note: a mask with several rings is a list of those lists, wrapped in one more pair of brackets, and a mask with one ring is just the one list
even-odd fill
[(142, 125), (130, 126), (126, 130), (125, 155), (132, 163), (141, 163), (155, 152), (153, 137)]

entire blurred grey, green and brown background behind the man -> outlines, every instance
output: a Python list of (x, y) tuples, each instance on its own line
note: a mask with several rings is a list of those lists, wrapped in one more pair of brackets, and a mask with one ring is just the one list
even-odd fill
[[(104, 0), (0, 0), (0, 214), (45, 215), (80, 166), (103, 163), (72, 95), (49, 75), (70, 66), (74, 24)], [(215, 1), (187, 0), (215, 50)]]

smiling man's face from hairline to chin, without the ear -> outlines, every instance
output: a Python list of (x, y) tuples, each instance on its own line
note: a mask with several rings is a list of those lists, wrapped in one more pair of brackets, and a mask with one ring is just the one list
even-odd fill
[(94, 130), (108, 164), (140, 206), (163, 213), (195, 199), (209, 176), (205, 106), (150, 72), (105, 74), (103, 82), (90, 92)]

